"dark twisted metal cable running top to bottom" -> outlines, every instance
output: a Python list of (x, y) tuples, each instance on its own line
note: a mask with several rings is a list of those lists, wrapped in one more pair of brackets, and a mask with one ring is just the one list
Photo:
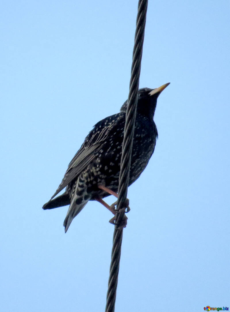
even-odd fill
[(137, 110), (137, 97), (139, 88), (139, 77), (141, 70), (141, 58), (143, 51), (144, 29), (146, 22), (146, 12), (148, 0), (139, 0), (136, 21), (136, 32), (134, 39), (133, 61), (131, 67), (131, 78), (129, 83), (128, 107), (126, 111), (126, 121), (124, 127), (124, 140), (122, 145), (121, 167), (119, 177), (118, 201), (115, 216), (115, 228), (113, 235), (113, 247), (111, 254), (110, 276), (106, 298), (106, 312), (114, 312), (116, 290), (118, 283), (118, 273), (121, 255), (121, 243), (123, 235), (124, 213), (129, 184), (129, 171), (131, 163), (131, 152), (133, 145), (134, 125)]

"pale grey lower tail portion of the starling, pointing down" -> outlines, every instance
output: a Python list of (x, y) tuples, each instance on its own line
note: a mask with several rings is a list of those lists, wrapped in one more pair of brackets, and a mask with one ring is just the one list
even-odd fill
[(84, 200), (84, 195), (81, 197), (77, 196), (76, 193), (73, 195), (67, 215), (63, 223), (63, 226), (65, 227), (65, 233), (67, 232), (70, 223), (73, 221), (73, 218), (75, 218), (78, 213), (85, 207), (89, 199), (90, 198)]

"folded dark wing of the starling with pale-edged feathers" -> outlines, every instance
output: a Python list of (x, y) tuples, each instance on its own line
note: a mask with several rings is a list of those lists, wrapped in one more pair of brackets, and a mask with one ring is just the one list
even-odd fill
[(54, 198), (63, 188), (65, 188), (73, 179), (75, 179), (97, 157), (101, 147), (106, 141), (106, 138), (121, 118), (125, 118), (124, 114), (119, 113), (102, 119), (95, 124), (92, 131), (90, 131), (85, 138), (81, 148), (77, 151), (69, 163), (64, 178), (51, 199)]

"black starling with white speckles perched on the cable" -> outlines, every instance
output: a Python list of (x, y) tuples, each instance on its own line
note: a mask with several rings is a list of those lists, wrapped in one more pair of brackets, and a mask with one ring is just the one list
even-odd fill
[[(129, 186), (143, 172), (154, 152), (158, 138), (157, 126), (153, 120), (157, 98), (169, 84), (155, 89), (138, 90)], [(109, 206), (102, 198), (110, 194), (117, 197), (127, 105), (128, 100), (121, 106), (119, 113), (94, 125), (69, 163), (58, 189), (42, 207), (46, 210), (69, 205), (63, 223), (65, 232), (73, 218), (90, 200), (102, 203), (114, 213), (114, 206)], [(64, 188), (65, 192), (56, 197)]]

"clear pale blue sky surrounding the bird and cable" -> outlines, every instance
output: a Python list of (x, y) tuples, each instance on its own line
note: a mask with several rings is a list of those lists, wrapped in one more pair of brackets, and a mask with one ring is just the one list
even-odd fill
[[(68, 207), (41, 207), (127, 99), (137, 3), (1, 2), (1, 311), (105, 309), (110, 212), (89, 202), (64, 234)], [(140, 87), (171, 84), (128, 191), (117, 312), (230, 307), (229, 11), (149, 1)]]

